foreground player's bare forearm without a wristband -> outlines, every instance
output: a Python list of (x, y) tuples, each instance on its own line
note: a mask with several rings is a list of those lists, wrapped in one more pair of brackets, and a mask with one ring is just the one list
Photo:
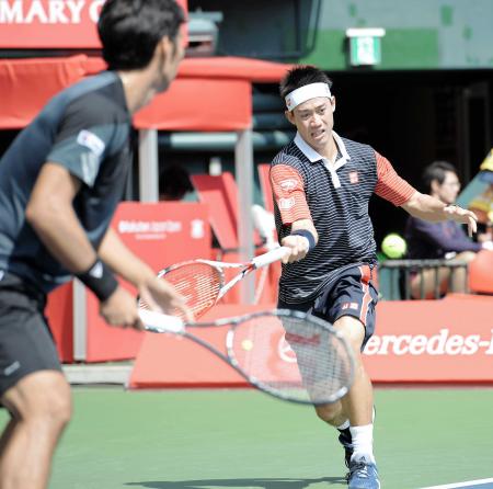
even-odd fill
[(115, 273), (137, 287), (154, 277), (152, 269), (134, 254), (112, 228), (106, 231), (98, 254)]

